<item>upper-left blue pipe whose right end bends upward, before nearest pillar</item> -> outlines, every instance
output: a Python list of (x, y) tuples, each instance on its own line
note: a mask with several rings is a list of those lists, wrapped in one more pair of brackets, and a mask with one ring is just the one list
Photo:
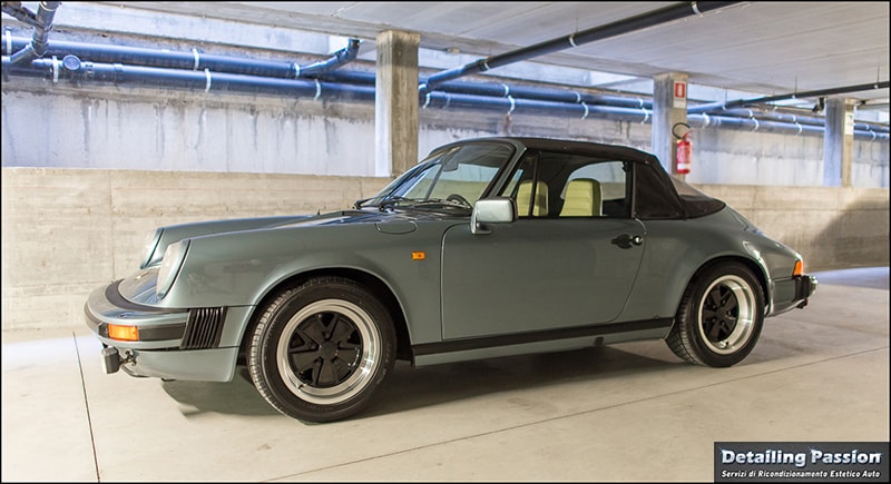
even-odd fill
[[(7, 36), (9, 32), (7, 32)], [(9, 43), (12, 50), (25, 48), (27, 39), (12, 37)], [(173, 69), (199, 70), (210, 69), (216, 72), (246, 73), (253, 76), (265, 76), (276, 78), (298, 78), (316, 76), (353, 61), (359, 55), (359, 39), (350, 39), (345, 48), (331, 55), (330, 59), (300, 66), (292, 62), (280, 62), (272, 60), (242, 59), (226, 56), (202, 53), (197, 50), (192, 52), (158, 51), (139, 47), (106, 46), (100, 43), (79, 43), (52, 40), (48, 42), (47, 56), (63, 57), (68, 55), (77, 56), (82, 60), (92, 62), (120, 62), (136, 63), (150, 67), (166, 67)], [(7, 50), (7, 42), (3, 50)], [(41, 56), (42, 57), (42, 56)]]

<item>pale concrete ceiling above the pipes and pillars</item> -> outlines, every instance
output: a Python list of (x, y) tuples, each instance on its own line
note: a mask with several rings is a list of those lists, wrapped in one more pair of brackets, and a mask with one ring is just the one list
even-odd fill
[[(358, 37), (370, 46), (381, 31), (411, 31), (420, 33), (422, 48), (463, 55), (456, 57), (460, 61), (452, 67), (466, 63), (467, 56), (481, 59), (676, 4), (648, 1), (106, 3)], [(686, 72), (692, 86), (755, 97), (887, 82), (889, 2), (736, 2), (531, 61), (620, 75), (609, 83), (593, 82), (613, 89), (663, 72)], [(497, 75), (497, 70), (491, 73)], [(863, 101), (860, 109), (888, 110), (888, 88), (840, 96)]]

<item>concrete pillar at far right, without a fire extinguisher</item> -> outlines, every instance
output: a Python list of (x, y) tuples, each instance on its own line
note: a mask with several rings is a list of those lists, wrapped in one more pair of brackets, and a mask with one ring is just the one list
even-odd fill
[(854, 101), (826, 99), (826, 127), (823, 134), (823, 186), (850, 187), (854, 148)]

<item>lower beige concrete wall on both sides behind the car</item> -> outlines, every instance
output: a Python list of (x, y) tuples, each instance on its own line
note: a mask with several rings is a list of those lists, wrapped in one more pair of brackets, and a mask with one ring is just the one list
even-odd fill
[[(2, 169), (2, 328), (80, 327), (90, 290), (134, 273), (146, 234), (350, 206), (389, 178)], [(701, 186), (794, 247), (807, 270), (889, 264), (889, 191)]]

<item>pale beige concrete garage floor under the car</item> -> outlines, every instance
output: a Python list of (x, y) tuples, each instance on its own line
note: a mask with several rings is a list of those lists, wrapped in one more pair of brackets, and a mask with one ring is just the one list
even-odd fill
[(888, 442), (889, 268), (817, 277), (732, 368), (662, 342), (398, 365), (368, 412), (323, 425), (244, 372), (106, 375), (86, 326), (4, 333), (2, 480), (711, 482), (715, 442)]

